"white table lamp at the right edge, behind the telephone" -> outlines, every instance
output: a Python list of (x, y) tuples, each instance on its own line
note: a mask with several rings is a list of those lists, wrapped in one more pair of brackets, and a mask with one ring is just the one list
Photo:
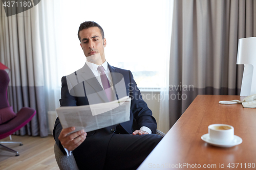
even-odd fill
[(239, 39), (237, 64), (244, 64), (240, 95), (256, 94), (256, 37)]

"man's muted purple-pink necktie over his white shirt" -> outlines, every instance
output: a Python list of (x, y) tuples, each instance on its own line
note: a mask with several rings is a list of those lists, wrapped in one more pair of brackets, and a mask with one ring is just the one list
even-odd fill
[(109, 102), (111, 102), (114, 100), (113, 99), (114, 95), (113, 95), (112, 88), (110, 86), (110, 82), (109, 82), (108, 78), (106, 77), (105, 69), (102, 66), (98, 66), (97, 70), (100, 71), (100, 79), (101, 79), (102, 86), (104, 88), (107, 98), (109, 99)]

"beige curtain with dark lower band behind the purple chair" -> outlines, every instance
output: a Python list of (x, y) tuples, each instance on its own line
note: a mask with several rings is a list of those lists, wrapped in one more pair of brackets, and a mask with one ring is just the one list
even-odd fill
[(0, 15), (0, 61), (10, 68), (9, 104), (16, 113), (22, 107), (36, 109), (31, 122), (16, 134), (47, 136), (38, 5), (9, 17), (2, 6)]

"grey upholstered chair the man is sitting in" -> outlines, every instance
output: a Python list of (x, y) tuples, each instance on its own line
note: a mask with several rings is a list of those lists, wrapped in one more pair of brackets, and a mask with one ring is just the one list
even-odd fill
[[(160, 135), (162, 137), (164, 137), (164, 135), (165, 135), (165, 133), (163, 133), (159, 130), (156, 131), (156, 134)], [(55, 159), (56, 159), (56, 162), (57, 162), (60, 170), (79, 170), (73, 154), (71, 156), (64, 155), (60, 151), (56, 142), (54, 144), (54, 154), (55, 154)]]

